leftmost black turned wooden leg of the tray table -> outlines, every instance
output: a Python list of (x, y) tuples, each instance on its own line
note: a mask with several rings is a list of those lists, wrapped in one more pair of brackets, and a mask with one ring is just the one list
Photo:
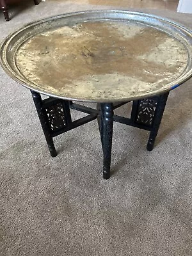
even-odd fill
[(42, 125), (42, 129), (45, 134), (45, 139), (46, 139), (47, 145), (49, 147), (49, 152), (52, 157), (56, 157), (57, 152), (54, 147), (53, 140), (52, 140), (51, 128), (49, 125), (49, 120), (47, 118), (47, 113), (42, 106), (42, 97), (41, 97), (40, 93), (33, 92), (32, 90), (31, 90), (31, 93), (32, 93), (33, 101), (35, 103), (36, 111), (38, 113), (38, 117), (39, 117), (41, 125)]

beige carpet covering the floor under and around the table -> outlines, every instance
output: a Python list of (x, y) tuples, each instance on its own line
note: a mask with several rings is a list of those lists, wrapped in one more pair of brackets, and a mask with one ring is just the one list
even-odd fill
[[(110, 7), (28, 3), (11, 10), (10, 22), (0, 15), (0, 37), (40, 17), (93, 8)], [(192, 28), (192, 15), (144, 11)], [(115, 124), (109, 180), (96, 121), (58, 136), (52, 159), (29, 90), (2, 69), (0, 82), (1, 256), (192, 255), (192, 81), (170, 94), (152, 152), (148, 132)]]

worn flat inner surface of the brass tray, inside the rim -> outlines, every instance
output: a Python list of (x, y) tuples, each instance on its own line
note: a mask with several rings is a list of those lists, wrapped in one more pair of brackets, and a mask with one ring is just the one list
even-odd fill
[(16, 61), (36, 88), (72, 99), (113, 100), (161, 90), (184, 72), (188, 52), (150, 26), (92, 21), (38, 33), (20, 46)]

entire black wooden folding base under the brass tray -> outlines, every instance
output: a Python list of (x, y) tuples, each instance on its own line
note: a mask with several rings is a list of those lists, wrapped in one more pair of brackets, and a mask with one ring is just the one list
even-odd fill
[[(147, 150), (152, 150), (169, 94), (164, 93), (163, 95), (149, 99), (134, 100), (134, 102), (132, 102), (131, 118), (125, 118), (123, 116), (114, 115), (113, 110), (127, 102), (116, 104), (99, 103), (97, 104), (97, 109), (93, 109), (82, 106), (81, 104), (76, 104), (71, 100), (61, 100), (52, 97), (42, 100), (39, 93), (33, 91), (31, 91), (31, 93), (42, 124), (47, 145), (53, 157), (56, 156), (56, 150), (52, 140), (53, 137), (75, 129), (97, 118), (103, 150), (104, 179), (109, 179), (110, 177), (113, 121), (150, 131)], [(87, 113), (88, 116), (84, 116), (72, 122), (70, 109)]]

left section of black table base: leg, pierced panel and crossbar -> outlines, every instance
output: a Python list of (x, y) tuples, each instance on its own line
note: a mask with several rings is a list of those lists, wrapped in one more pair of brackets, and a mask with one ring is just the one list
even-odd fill
[[(72, 106), (72, 102), (68, 100), (60, 100), (52, 97), (42, 100), (40, 93), (33, 92), (32, 90), (31, 93), (52, 157), (57, 156), (52, 138), (97, 118), (96, 109), (95, 113), (94, 111), (90, 111), (90, 108), (83, 108), (83, 106), (78, 104)], [(79, 111), (84, 110), (85, 113), (90, 113), (90, 115), (72, 122), (70, 108), (73, 107)]]

